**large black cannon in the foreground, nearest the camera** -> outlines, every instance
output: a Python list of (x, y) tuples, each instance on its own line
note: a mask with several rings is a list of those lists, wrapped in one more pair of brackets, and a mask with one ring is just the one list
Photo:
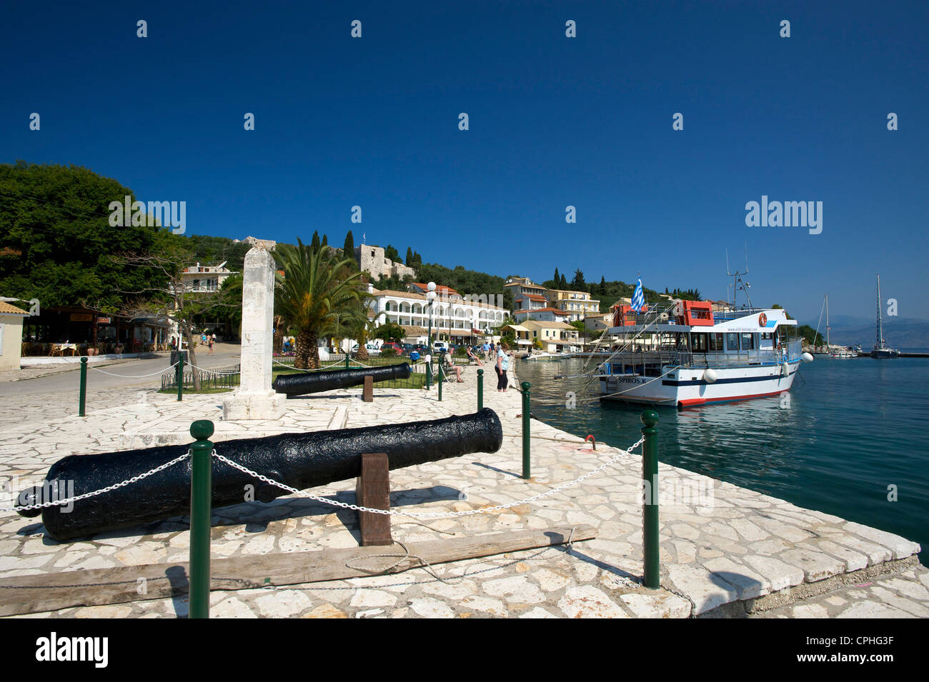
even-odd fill
[[(464, 417), (224, 441), (216, 444), (216, 452), (274, 481), (304, 490), (360, 475), (364, 453), (386, 453), (390, 469), (400, 469), (474, 452), (496, 452), (503, 439), (500, 418), (485, 407)], [(48, 470), (44, 484), (46, 490), (49, 485), (67, 490), (68, 497), (82, 495), (155, 469), (183, 455), (188, 447), (64, 457)], [(45, 508), (41, 514), (46, 534), (55, 540), (70, 540), (189, 514), (190, 468), (190, 458), (184, 459), (143, 481), (73, 502), (70, 511), (69, 507)], [(248, 485), (255, 486), (254, 499), (261, 502), (288, 495), (215, 457), (212, 475), (214, 508), (244, 502)], [(19, 504), (34, 504), (42, 496), (42, 488), (34, 487), (20, 494)], [(40, 511), (21, 509), (19, 513), (34, 517)]]

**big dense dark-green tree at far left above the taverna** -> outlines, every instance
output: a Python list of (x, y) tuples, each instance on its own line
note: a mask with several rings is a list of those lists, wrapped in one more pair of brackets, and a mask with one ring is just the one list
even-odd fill
[(159, 228), (110, 225), (111, 201), (133, 192), (79, 166), (0, 164), (0, 293), (43, 308), (85, 304), (115, 313), (125, 290), (164, 288), (161, 270), (116, 263), (148, 251)]

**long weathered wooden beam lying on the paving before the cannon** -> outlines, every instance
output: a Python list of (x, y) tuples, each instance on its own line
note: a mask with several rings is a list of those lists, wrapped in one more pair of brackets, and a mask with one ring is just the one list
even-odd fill
[[(511, 531), (405, 543), (393, 547), (350, 547), (313, 552), (214, 558), (211, 590), (240, 590), (269, 585), (303, 585), (378, 574), (393, 566), (400, 573), (430, 564), (490, 557), (536, 547), (592, 540), (596, 531), (581, 524), (547, 530)], [(386, 558), (372, 555), (397, 554)], [(363, 570), (362, 570), (363, 569)], [(0, 578), (0, 616), (58, 611), (73, 606), (121, 604), (188, 594), (188, 562), (115, 566)], [(143, 592), (144, 590), (144, 592)]]

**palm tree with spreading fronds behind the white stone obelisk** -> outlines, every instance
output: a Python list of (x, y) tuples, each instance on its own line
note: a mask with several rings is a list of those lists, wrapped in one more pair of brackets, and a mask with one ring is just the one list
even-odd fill
[(332, 332), (336, 320), (344, 324), (347, 312), (358, 307), (361, 273), (352, 271), (354, 258), (314, 250), (299, 238), (297, 246), (281, 244), (277, 252), (284, 275), (278, 276), (275, 297), (278, 312), (296, 331), (294, 367), (317, 369), (317, 340)]

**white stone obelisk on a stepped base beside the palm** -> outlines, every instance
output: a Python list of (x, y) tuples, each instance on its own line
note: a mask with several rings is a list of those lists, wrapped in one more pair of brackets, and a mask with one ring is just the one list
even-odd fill
[(271, 390), (274, 335), (274, 259), (261, 243), (242, 268), (242, 380), (223, 401), (224, 419), (277, 419), (286, 396)]

